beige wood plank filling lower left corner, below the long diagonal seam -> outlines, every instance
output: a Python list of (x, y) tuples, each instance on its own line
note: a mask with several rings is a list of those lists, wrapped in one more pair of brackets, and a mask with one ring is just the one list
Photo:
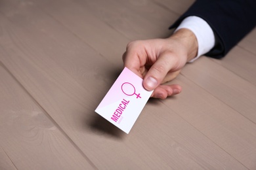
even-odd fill
[(93, 169), (1, 64), (0, 76), (1, 169)]

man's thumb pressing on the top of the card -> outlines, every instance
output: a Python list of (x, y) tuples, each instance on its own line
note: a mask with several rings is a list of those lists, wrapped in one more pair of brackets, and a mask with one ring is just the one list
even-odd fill
[(160, 56), (156, 63), (148, 70), (143, 80), (143, 86), (146, 90), (150, 91), (158, 87), (167, 73), (173, 68), (176, 62), (168, 57), (169, 55), (170, 54), (165, 54)]

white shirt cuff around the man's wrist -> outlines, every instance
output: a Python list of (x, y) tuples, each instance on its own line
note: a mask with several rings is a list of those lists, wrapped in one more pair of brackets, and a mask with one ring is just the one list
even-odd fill
[(211, 48), (215, 45), (215, 35), (213, 33), (213, 29), (198, 16), (188, 16), (184, 20), (182, 20), (177, 30), (186, 28), (190, 29), (196, 35), (196, 39), (198, 40), (198, 55), (196, 58), (193, 58), (189, 62), (193, 62), (198, 59), (203, 54), (209, 52)]

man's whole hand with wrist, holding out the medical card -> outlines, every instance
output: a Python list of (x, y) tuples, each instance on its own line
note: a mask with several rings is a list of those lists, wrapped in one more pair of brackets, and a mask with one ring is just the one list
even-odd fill
[(181, 93), (178, 84), (163, 85), (179, 75), (187, 61), (198, 50), (196, 37), (189, 29), (179, 29), (168, 39), (133, 41), (123, 54), (124, 66), (143, 78), (146, 90), (154, 90), (151, 97), (165, 99)]

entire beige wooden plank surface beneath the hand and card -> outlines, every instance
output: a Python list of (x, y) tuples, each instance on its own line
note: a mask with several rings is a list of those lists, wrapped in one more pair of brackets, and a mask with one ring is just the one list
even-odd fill
[(186, 65), (129, 135), (94, 112), (126, 44), (170, 35), (193, 2), (1, 1), (0, 169), (256, 169), (255, 30)]

